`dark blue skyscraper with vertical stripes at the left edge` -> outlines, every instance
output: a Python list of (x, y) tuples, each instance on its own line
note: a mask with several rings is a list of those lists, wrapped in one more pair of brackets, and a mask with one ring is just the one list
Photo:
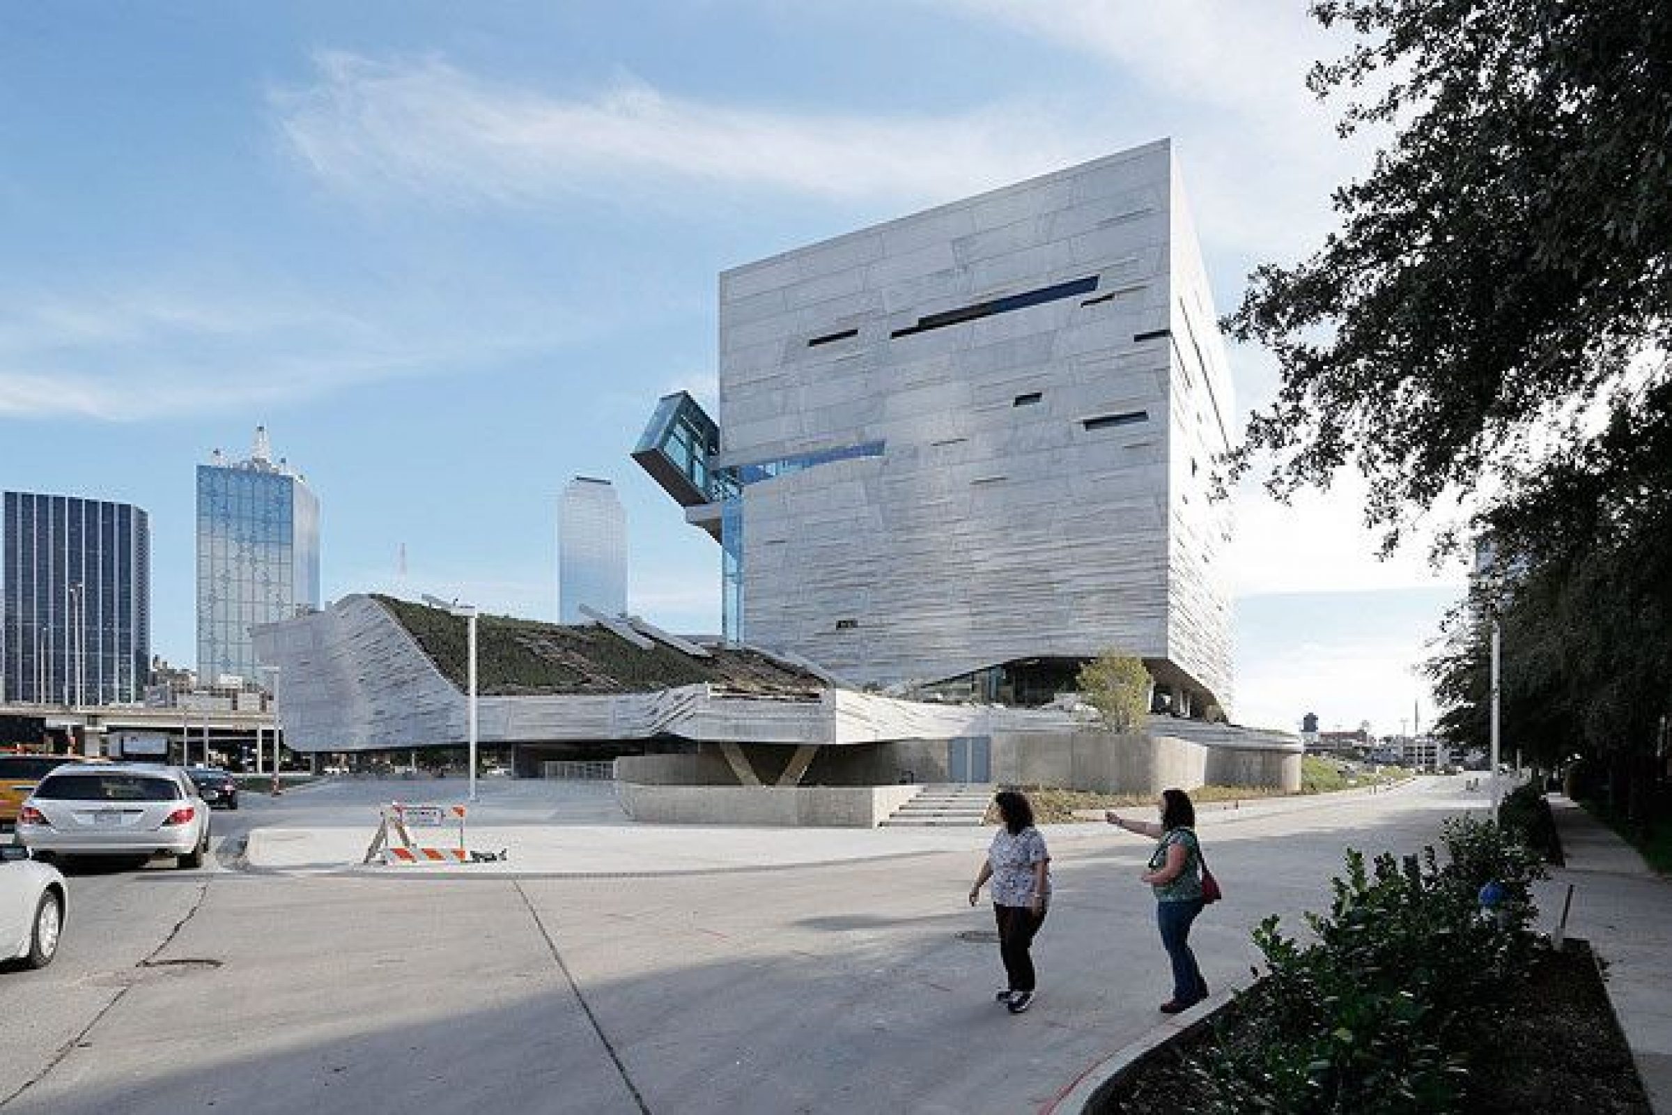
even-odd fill
[(137, 702), (150, 675), (150, 520), (127, 503), (5, 493), (0, 700)]

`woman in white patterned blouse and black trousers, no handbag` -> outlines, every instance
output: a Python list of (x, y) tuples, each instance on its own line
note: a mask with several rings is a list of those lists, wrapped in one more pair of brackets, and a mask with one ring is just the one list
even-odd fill
[(1003, 824), (993, 834), (981, 873), (970, 888), (970, 904), (981, 893), (981, 884), (993, 881), (993, 918), (998, 919), (998, 956), (1005, 961), (1007, 986), (998, 1001), (1020, 1015), (1033, 1005), (1033, 934), (1045, 923), (1045, 906), (1050, 901), (1050, 853), (1045, 838), (1033, 827), (1033, 806), (1025, 794), (1013, 789), (993, 797)]

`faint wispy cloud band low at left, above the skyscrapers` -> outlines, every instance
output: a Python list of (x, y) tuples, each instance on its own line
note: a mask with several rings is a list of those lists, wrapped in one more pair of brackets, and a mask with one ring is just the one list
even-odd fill
[(249, 411), (366, 383), (441, 374), (597, 328), (503, 299), (445, 313), (410, 291), (326, 303), (216, 276), (0, 298), (0, 418), (140, 421)]

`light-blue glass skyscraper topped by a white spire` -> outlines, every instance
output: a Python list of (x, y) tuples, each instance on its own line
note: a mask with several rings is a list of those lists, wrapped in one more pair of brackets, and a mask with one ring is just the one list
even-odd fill
[(319, 608), (319, 500), (256, 428), (247, 461), (197, 466), (197, 675), (261, 682), (249, 629)]

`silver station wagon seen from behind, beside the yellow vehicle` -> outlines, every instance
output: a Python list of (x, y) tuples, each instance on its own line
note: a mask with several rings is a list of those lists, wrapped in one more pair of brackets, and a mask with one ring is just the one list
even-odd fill
[(18, 809), (17, 841), (35, 853), (174, 856), (181, 868), (199, 868), (209, 851), (209, 804), (181, 767), (59, 767)]

